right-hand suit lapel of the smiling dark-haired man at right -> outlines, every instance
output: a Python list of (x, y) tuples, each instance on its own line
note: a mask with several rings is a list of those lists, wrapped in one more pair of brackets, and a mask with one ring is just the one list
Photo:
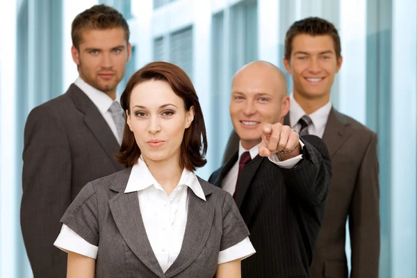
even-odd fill
[(349, 137), (345, 126), (349, 123), (345, 115), (338, 113), (336, 109), (332, 108), (327, 119), (325, 133), (323, 134), (323, 141), (329, 149), (330, 157), (336, 154), (337, 150), (343, 145), (343, 142)]

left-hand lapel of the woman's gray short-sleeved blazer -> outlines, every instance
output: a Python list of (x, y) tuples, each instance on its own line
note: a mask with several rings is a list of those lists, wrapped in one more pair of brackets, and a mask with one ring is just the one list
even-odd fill
[(120, 234), (138, 259), (158, 277), (165, 277), (147, 238), (140, 213), (138, 193), (136, 191), (124, 193), (129, 175), (130, 169), (121, 172), (112, 182), (111, 189), (119, 192), (108, 202), (113, 219)]

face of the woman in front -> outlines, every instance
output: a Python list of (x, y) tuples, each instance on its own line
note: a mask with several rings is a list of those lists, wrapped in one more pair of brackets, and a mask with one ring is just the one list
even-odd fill
[(184, 131), (194, 120), (166, 81), (145, 81), (133, 88), (127, 124), (145, 161), (179, 161)]

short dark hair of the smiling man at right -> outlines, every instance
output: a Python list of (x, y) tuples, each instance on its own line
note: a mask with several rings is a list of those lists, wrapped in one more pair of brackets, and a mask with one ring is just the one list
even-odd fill
[(311, 36), (329, 35), (334, 42), (336, 58), (341, 56), (341, 38), (338, 35), (336, 27), (330, 22), (320, 17), (307, 17), (294, 22), (285, 35), (284, 57), (287, 60), (291, 58), (293, 51), (293, 40), (297, 35), (307, 34)]

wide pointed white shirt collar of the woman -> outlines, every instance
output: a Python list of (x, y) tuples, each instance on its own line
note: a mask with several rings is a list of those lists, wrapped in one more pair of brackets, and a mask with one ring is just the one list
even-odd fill
[[(148, 188), (149, 186), (156, 186), (158, 181), (152, 176), (149, 168), (147, 167), (145, 161), (143, 161), (142, 156), (138, 159), (138, 163), (133, 165), (132, 171), (129, 177), (129, 181), (127, 181), (126, 189), (124, 193), (131, 193), (134, 191), (140, 191)], [(193, 190), (193, 193), (206, 201), (206, 196), (204, 195), (203, 188), (199, 183), (197, 176), (194, 172), (188, 171), (184, 168), (181, 178), (179, 179), (178, 186), (188, 186)]]

